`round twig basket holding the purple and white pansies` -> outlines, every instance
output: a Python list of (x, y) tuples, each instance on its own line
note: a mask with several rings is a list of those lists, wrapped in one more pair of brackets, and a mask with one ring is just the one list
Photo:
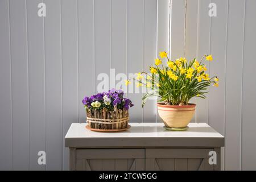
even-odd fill
[(129, 117), (120, 119), (88, 118), (87, 122), (92, 129), (118, 130), (128, 127)]

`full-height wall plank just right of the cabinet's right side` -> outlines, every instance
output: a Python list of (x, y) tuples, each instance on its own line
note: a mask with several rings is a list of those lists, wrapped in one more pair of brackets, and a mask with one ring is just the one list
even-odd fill
[[(226, 52), (225, 169), (240, 170), (243, 23), (245, 1), (229, 1)], [(217, 60), (218, 61), (218, 60)], [(224, 80), (223, 80), (224, 81)]]

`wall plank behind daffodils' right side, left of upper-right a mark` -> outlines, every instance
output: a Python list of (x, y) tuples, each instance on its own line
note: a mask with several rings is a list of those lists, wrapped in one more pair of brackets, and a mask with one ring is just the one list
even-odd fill
[[(197, 56), (199, 60), (205, 54), (210, 53), (210, 16), (208, 5), (210, 0), (198, 1), (198, 22), (197, 22)], [(209, 63), (205, 62), (209, 68)], [(207, 71), (209, 72), (209, 71)], [(196, 122), (208, 123), (208, 94), (206, 99), (196, 98)]]

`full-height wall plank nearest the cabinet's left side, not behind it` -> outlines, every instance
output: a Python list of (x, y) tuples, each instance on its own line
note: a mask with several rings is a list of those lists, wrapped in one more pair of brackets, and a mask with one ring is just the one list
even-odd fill
[(60, 1), (45, 0), (47, 170), (62, 169), (62, 92)]

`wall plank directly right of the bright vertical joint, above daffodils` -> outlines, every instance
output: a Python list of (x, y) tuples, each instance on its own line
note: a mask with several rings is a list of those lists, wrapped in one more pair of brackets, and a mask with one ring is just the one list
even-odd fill
[(184, 56), (185, 0), (172, 0), (171, 60)]

